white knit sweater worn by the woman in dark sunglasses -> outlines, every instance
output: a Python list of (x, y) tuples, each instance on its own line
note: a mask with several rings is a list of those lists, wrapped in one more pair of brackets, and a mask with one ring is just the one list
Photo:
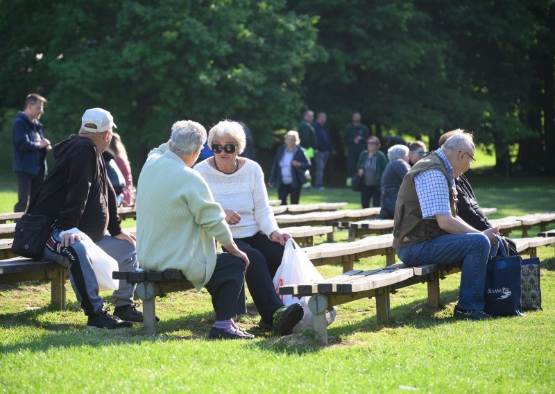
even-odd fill
[(241, 221), (230, 225), (233, 238), (245, 238), (262, 231), (269, 236), (279, 230), (272, 209), (264, 173), (257, 162), (245, 159), (245, 164), (236, 173), (227, 175), (214, 169), (210, 159), (196, 164), (194, 169), (205, 178), (214, 200), (223, 209), (231, 209), (241, 215)]

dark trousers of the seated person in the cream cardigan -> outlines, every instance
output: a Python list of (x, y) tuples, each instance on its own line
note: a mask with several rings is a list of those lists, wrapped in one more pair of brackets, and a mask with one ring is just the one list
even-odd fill
[(243, 314), (239, 307), (245, 304), (245, 263), (229, 253), (218, 253), (216, 268), (206, 284), (212, 296), (212, 306), (216, 311), (216, 320), (228, 320)]

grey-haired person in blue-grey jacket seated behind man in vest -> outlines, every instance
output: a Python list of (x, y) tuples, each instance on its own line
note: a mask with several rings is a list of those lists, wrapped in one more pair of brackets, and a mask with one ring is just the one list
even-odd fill
[(395, 202), (404, 175), (409, 172), (409, 147), (393, 145), (387, 150), (389, 163), (382, 174), (382, 199), (379, 206), (379, 219), (393, 219), (395, 216)]

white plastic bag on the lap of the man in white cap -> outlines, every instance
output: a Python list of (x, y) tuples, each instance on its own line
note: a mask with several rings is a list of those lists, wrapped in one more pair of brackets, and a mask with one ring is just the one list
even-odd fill
[(81, 242), (87, 245), (87, 251), (92, 263), (92, 271), (94, 271), (94, 276), (96, 276), (96, 282), (99, 282), (99, 291), (117, 290), (119, 288), (119, 280), (112, 279), (112, 272), (119, 271), (117, 261), (102, 250), (100, 246), (96, 245), (81, 230), (71, 228), (70, 230), (60, 232), (60, 237), (67, 232), (79, 234)]

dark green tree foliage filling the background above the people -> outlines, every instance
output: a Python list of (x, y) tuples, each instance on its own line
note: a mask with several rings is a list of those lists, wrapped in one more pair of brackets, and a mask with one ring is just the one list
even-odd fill
[(468, 128), (497, 169), (553, 172), (554, 4), (0, 0), (0, 112), (38, 91), (63, 137), (102, 106), (141, 149), (176, 119), (244, 117), (271, 148), (272, 130), (311, 108), (327, 112), (341, 153), (358, 110), (377, 135), (427, 135), (435, 148)]

